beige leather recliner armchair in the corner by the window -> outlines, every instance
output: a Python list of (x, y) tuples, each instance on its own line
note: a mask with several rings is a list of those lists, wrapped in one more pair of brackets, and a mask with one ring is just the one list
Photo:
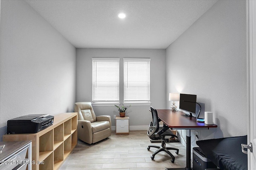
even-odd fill
[(96, 143), (111, 135), (111, 118), (108, 115), (96, 116), (91, 102), (76, 102), (78, 113), (78, 138), (88, 144)]

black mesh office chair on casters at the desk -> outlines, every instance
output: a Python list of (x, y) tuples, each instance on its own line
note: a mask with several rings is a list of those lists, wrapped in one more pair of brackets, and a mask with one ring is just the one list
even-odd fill
[(172, 133), (172, 131), (170, 131), (170, 128), (168, 126), (166, 126), (165, 124), (162, 129), (159, 129), (159, 122), (161, 120), (158, 118), (157, 111), (152, 106), (150, 107), (150, 109), (151, 109), (153, 120), (152, 120), (152, 122), (150, 122), (150, 127), (148, 128), (148, 132), (147, 132), (148, 137), (152, 140), (161, 139), (161, 143), (162, 143), (161, 146), (148, 145), (148, 148), (147, 148), (148, 150), (150, 150), (150, 147), (158, 149), (153, 153), (153, 155), (151, 156), (151, 159), (154, 160), (154, 157), (156, 154), (158, 154), (161, 151), (164, 151), (171, 156), (171, 158), (172, 158), (171, 161), (172, 161), (172, 163), (174, 163), (175, 157), (169, 150), (176, 150), (175, 153), (179, 154), (179, 149), (172, 148), (172, 147), (166, 147), (165, 146), (166, 140), (169, 140), (169, 139), (165, 139), (165, 136), (172, 136), (172, 137), (176, 137), (176, 138), (178, 138), (178, 137), (176, 135), (174, 135)]

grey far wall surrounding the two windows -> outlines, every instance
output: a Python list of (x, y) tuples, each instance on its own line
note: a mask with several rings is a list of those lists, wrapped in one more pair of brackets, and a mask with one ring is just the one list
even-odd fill
[[(120, 58), (120, 103), (123, 102), (123, 58), (150, 58), (150, 99), (157, 109), (166, 107), (166, 68), (164, 49), (76, 49), (76, 102), (92, 102), (92, 58)], [(130, 126), (147, 126), (152, 121), (150, 106), (131, 106), (126, 110)], [(114, 106), (94, 106), (96, 115), (119, 114)], [(135, 127), (140, 128), (140, 127)]]

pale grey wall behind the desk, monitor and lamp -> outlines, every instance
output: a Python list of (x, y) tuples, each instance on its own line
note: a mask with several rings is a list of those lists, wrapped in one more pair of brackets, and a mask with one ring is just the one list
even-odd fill
[(166, 49), (166, 70), (167, 92), (196, 94), (214, 113), (218, 128), (199, 137), (246, 135), (246, 1), (216, 2)]

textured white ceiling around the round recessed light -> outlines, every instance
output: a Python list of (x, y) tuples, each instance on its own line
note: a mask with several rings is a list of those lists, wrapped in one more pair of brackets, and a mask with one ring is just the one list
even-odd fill
[(166, 49), (216, 0), (26, 2), (77, 48)]

